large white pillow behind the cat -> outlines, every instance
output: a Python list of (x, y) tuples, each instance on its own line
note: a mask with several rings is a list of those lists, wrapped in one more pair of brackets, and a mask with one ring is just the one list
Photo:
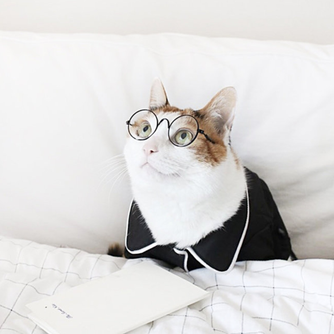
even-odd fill
[(333, 258), (334, 46), (297, 42), (0, 33), (0, 234), (98, 253), (124, 242), (129, 181), (104, 167), (156, 76), (181, 108), (236, 88), (232, 145), (297, 256)]

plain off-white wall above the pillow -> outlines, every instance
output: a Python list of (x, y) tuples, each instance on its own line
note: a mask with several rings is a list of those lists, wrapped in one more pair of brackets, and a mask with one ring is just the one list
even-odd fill
[(332, 0), (0, 0), (0, 30), (152, 33), (334, 43)]

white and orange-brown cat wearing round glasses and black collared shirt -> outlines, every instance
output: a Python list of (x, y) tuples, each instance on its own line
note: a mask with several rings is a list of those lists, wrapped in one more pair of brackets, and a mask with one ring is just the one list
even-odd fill
[[(226, 87), (200, 110), (172, 107), (162, 82), (154, 80), (149, 108), (127, 121), (124, 155), (134, 201), (126, 257), (218, 272), (244, 258), (289, 257), (290, 239), (266, 184), (243, 167), (230, 145), (235, 105), (236, 90)], [(260, 200), (249, 197), (253, 188)], [(253, 208), (257, 215), (264, 207), (275, 219), (249, 224)], [(262, 255), (258, 241), (264, 234), (269, 241)], [(256, 249), (247, 251), (251, 240)]]

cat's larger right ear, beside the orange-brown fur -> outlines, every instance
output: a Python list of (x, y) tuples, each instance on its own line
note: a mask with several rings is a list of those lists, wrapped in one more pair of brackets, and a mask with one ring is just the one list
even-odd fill
[(234, 87), (225, 87), (201, 110), (202, 114), (210, 117), (218, 134), (225, 135), (232, 128), (236, 103)]

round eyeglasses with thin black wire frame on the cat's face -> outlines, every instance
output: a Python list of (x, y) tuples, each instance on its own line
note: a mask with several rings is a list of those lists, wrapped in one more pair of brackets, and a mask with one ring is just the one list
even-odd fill
[(175, 146), (185, 147), (190, 145), (199, 133), (208, 141), (215, 144), (215, 142), (199, 128), (196, 118), (192, 115), (178, 116), (172, 123), (169, 123), (167, 118), (163, 118), (159, 122), (157, 115), (153, 111), (142, 109), (135, 112), (126, 124), (128, 125), (128, 131), (132, 138), (136, 140), (146, 140), (155, 133), (158, 126), (163, 121), (167, 121), (168, 138)]

